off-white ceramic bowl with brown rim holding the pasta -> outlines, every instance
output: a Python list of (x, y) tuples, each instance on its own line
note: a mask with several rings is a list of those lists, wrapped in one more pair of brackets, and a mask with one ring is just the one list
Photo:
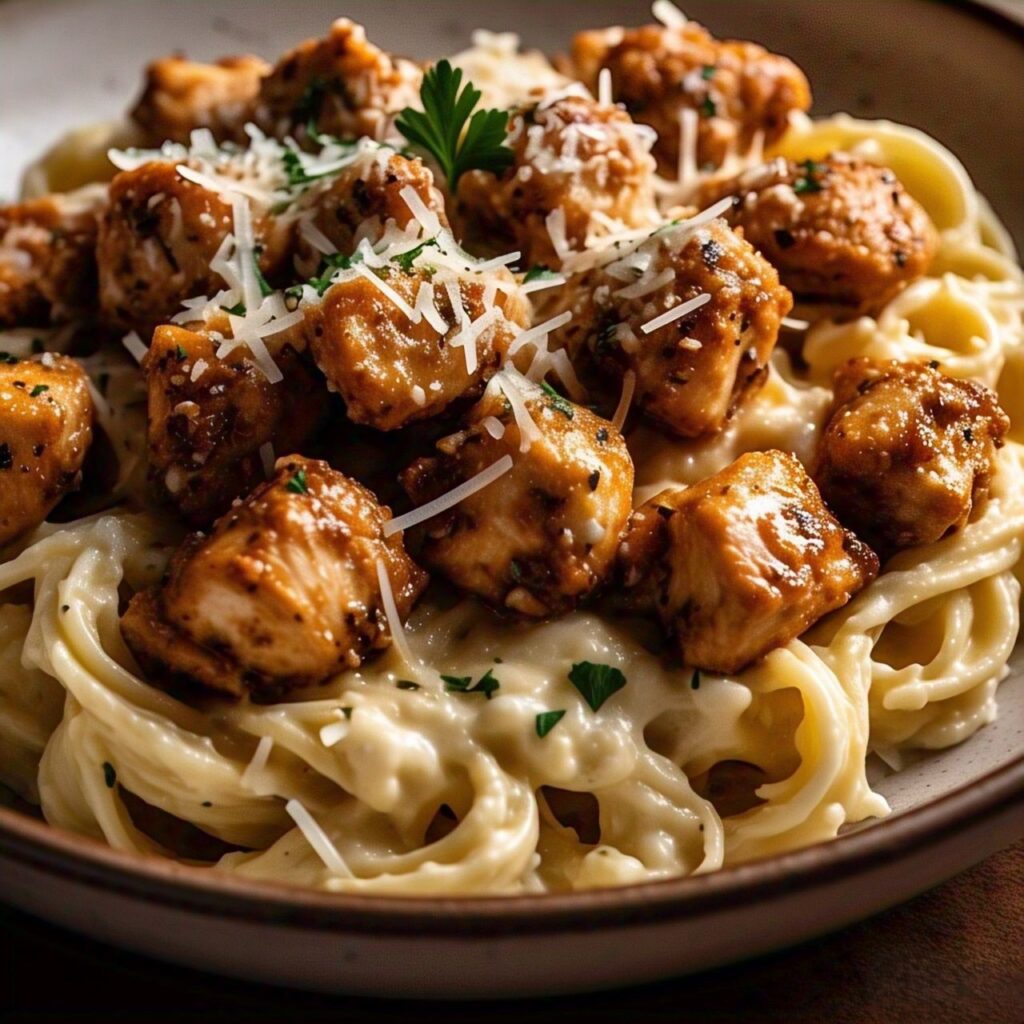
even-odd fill
[[(1024, 35), (929, 0), (693, 0), (719, 35), (808, 72), (817, 110), (887, 116), (956, 152), (1024, 240)], [(476, 26), (556, 50), (588, 26), (639, 23), (629, 0), (486, 5), (411, 0), (0, 3), (0, 195), (65, 129), (118, 116), (139, 68), (174, 49), (275, 56), (332, 16), (416, 56)], [(332, 896), (147, 860), (0, 809), (0, 897), (116, 944), (240, 977), (368, 994), (532, 995), (663, 978), (841, 927), (907, 899), (1024, 835), (1024, 650), (998, 721), (879, 788), (894, 814), (839, 840), (713, 876), (575, 895), (399, 900)], [(983, 912), (983, 910), (981, 911)]]

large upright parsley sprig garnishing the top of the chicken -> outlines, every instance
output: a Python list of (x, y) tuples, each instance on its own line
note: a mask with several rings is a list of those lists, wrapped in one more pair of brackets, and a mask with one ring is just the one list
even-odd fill
[(414, 146), (437, 161), (451, 191), (455, 191), (466, 171), (498, 174), (513, 160), (512, 151), (505, 144), (508, 111), (474, 113), (481, 95), (472, 82), (463, 85), (461, 68), (438, 60), (423, 76), (423, 110), (407, 106), (395, 122)]

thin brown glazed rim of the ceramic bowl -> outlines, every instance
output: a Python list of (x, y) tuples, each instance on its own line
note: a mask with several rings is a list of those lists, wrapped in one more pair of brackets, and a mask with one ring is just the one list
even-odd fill
[[(1014, 35), (1024, 20), (981, 0), (933, 0)], [(615, 889), (522, 896), (326, 893), (115, 850), (0, 807), (0, 857), (129, 898), (275, 927), (339, 934), (486, 935), (587, 931), (766, 902), (864, 873), (944, 835), (1024, 812), (1024, 754), (937, 800), (835, 840), (709, 874)], [(1024, 813), (1020, 833), (1024, 835)]]

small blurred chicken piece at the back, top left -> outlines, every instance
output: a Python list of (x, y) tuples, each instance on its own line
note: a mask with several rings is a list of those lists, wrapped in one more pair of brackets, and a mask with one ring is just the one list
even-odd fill
[(222, 57), (199, 63), (173, 55), (154, 60), (130, 117), (141, 144), (187, 142), (197, 128), (208, 128), (218, 141), (239, 139), (270, 66), (259, 57)]

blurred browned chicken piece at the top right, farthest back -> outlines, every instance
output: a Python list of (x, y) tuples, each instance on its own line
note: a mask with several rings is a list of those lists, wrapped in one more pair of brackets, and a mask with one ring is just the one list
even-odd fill
[(682, 111), (697, 113), (697, 164), (718, 167), (729, 154), (745, 154), (759, 134), (774, 142), (791, 112), (811, 105), (807, 78), (787, 57), (719, 41), (695, 22), (580, 33), (566, 70), (596, 89), (602, 68), (611, 72), (615, 101), (657, 132), (654, 154), (673, 178)]

